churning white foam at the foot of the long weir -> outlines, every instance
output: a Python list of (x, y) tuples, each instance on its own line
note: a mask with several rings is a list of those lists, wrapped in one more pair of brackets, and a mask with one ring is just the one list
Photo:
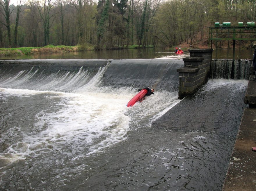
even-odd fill
[[(127, 108), (127, 102), (137, 92), (131, 87), (100, 87), (107, 67), (108, 65), (100, 68), (86, 85), (74, 88), (73, 93), (1, 88), (0, 97), (4, 99), (17, 96), (22, 100), (24, 97), (43, 95), (46, 100), (57, 100), (54, 107), (43, 109), (34, 115), (31, 132), (20, 133), (20, 142), (10, 145), (5, 154), (18, 154), (23, 158), (27, 154), (57, 149), (72, 155), (76, 160), (102, 152), (104, 148), (125, 140), (128, 131), (134, 128), (150, 126), (180, 101), (177, 99), (177, 92), (156, 90), (155, 95)], [(82, 71), (81, 68), (79, 72)], [(81, 76), (86, 76), (86, 73), (72, 76), (73, 80), (67, 80), (70, 81), (67, 85), (74, 86), (77, 80), (82, 80)], [(62, 80), (46, 83), (45, 86), (53, 87)], [(42, 84), (39, 83), (38, 86), (42, 87)], [(17, 144), (21, 143), (27, 145), (27, 149), (18, 149)]]

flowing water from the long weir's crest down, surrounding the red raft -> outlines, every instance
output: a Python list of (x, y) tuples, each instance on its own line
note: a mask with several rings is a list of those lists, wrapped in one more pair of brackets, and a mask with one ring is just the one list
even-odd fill
[(178, 100), (173, 56), (1, 61), (1, 190), (221, 190), (248, 81)]

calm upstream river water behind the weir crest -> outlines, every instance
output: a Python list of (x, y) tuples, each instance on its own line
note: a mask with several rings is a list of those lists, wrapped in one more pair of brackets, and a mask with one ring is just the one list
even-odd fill
[[(236, 49), (235, 60), (253, 59), (254, 49)], [(146, 49), (121, 49), (121, 50), (104, 50), (104, 51), (84, 51), (71, 53), (52, 53), (39, 55), (17, 55), (4, 56), (0, 59), (151, 59), (151, 58), (173, 58), (181, 59), (189, 56), (187, 51), (183, 55), (177, 55), (174, 50), (163, 48), (146, 48)], [(212, 59), (233, 59), (232, 49), (217, 49), (212, 53)]]

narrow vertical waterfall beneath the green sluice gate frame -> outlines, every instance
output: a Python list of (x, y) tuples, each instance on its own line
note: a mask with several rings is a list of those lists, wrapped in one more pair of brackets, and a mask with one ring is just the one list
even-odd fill
[[(234, 79), (249, 80), (251, 60), (234, 61)], [(232, 71), (232, 60), (212, 60), (211, 61), (211, 78), (230, 79)]]

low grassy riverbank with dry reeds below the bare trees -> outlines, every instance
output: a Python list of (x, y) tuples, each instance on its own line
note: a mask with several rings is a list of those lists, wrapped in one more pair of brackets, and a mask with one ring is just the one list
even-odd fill
[[(154, 46), (150, 45), (146, 48), (153, 48)], [(128, 46), (128, 48), (139, 48), (138, 45)], [(127, 49), (126, 46), (115, 46), (109, 48), (111, 50), (117, 49)], [(0, 48), (0, 57), (1, 56), (12, 56), (12, 55), (36, 55), (36, 54), (46, 54), (46, 53), (65, 53), (65, 52), (81, 52), (81, 51), (94, 51), (96, 50), (92, 45), (78, 45), (78, 46), (54, 46), (47, 45), (43, 47), (19, 47), (19, 48)]]

